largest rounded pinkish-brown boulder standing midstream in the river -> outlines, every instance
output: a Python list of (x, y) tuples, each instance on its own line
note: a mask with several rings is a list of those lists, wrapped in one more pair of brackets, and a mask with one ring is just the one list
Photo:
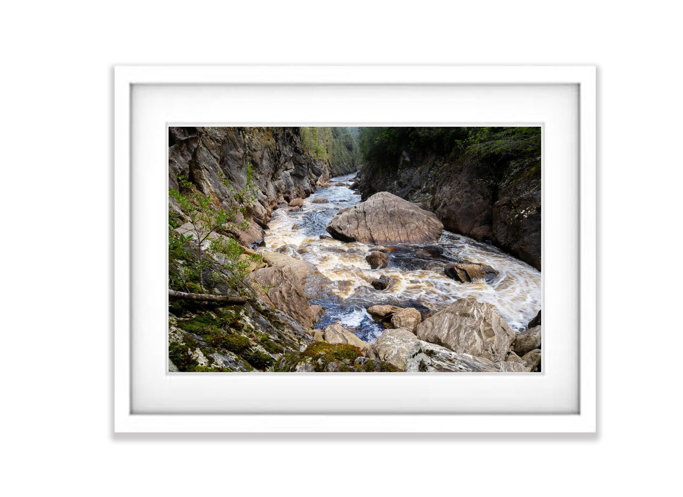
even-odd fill
[(432, 213), (387, 191), (375, 193), (327, 224), (327, 232), (336, 239), (373, 245), (427, 243), (441, 237), (442, 230)]

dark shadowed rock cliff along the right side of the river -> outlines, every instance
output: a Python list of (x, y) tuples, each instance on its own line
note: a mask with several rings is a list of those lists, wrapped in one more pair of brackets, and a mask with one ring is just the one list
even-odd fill
[(363, 198), (389, 191), (436, 213), (449, 231), (491, 241), (541, 269), (541, 159), (500, 160), (405, 149), (398, 161), (370, 161)]

